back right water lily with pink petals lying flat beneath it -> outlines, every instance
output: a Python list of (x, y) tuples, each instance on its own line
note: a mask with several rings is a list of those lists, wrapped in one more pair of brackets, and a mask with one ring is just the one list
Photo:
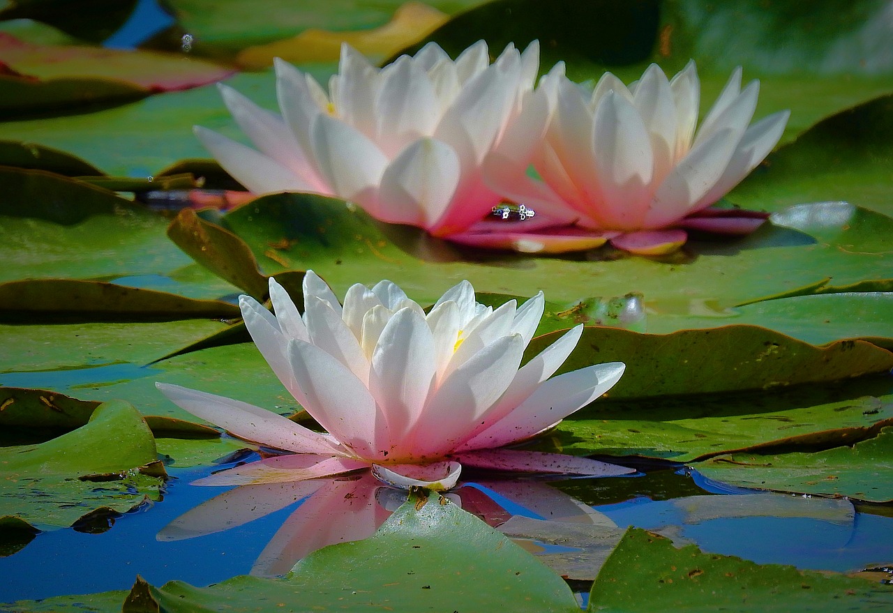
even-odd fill
[[(485, 171), (497, 191), (537, 210), (558, 204), (574, 223), (545, 230), (504, 225), (466, 234), (462, 242), (561, 252), (598, 236), (656, 255), (684, 244), (685, 228), (747, 234), (765, 220), (755, 211), (710, 208), (764, 160), (789, 117), (776, 112), (748, 127), (759, 82), (742, 90), (740, 68), (697, 131), (694, 62), (672, 80), (652, 64), (630, 87), (608, 72), (591, 93), (561, 74), (550, 79), (544, 142), (515, 139), (512, 149), (491, 156)], [(545, 183), (526, 176), (530, 162)]]

